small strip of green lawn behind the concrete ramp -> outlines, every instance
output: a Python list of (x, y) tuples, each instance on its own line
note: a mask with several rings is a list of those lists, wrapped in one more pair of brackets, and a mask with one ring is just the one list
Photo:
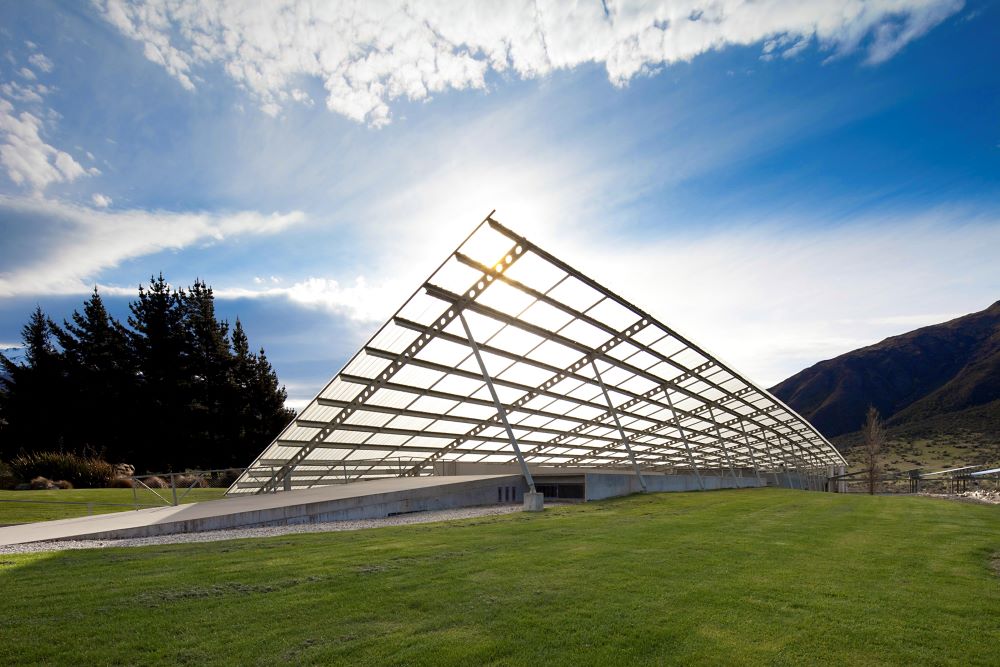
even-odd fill
[[(171, 499), (170, 489), (157, 489), (159, 494)], [(225, 489), (191, 489), (182, 503), (193, 503), (201, 500), (221, 498)], [(178, 497), (184, 491), (177, 491)], [(140, 490), (137, 494), (139, 503), (143, 505), (162, 504), (151, 491)], [(6, 502), (9, 500), (21, 502)], [(45, 501), (45, 502), (23, 502)], [(52, 501), (81, 503), (80, 505), (50, 504)], [(86, 503), (94, 503), (87, 507)], [(111, 503), (115, 506), (100, 505)], [(104, 514), (106, 512), (125, 512), (133, 509), (132, 489), (59, 489), (55, 491), (0, 491), (0, 526), (15, 523), (30, 523), (32, 521), (50, 521), (52, 519), (70, 519), (76, 516)], [(124, 505), (129, 505), (125, 507)]]

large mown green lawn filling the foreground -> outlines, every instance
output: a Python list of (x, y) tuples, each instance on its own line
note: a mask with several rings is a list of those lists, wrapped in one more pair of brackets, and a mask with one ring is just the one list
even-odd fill
[(779, 489), (0, 556), (0, 664), (997, 664), (1000, 508)]

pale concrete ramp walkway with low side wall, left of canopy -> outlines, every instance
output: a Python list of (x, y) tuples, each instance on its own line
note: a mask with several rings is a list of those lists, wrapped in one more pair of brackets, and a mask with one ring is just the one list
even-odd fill
[(42, 521), (0, 528), (0, 545), (67, 539), (122, 539), (174, 533), (370, 519), (497, 502), (497, 488), (520, 475), (394, 477), (177, 507)]

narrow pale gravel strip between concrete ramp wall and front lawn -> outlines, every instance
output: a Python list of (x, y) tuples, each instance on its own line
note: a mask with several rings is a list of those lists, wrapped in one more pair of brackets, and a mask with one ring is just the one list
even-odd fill
[(25, 554), (39, 551), (64, 551), (66, 549), (103, 549), (106, 547), (145, 547), (154, 544), (178, 544), (181, 542), (218, 542), (246, 537), (273, 537), (295, 533), (329, 533), (341, 530), (364, 530), (386, 526), (407, 526), (414, 523), (472, 519), (481, 516), (496, 516), (520, 512), (520, 505), (489, 505), (486, 507), (460, 507), (450, 510), (414, 512), (382, 519), (358, 519), (356, 521), (328, 521), (325, 523), (302, 523), (293, 526), (270, 526), (267, 528), (232, 528), (201, 533), (178, 533), (157, 537), (134, 537), (124, 540), (58, 540), (52, 542), (29, 542), (0, 546), (0, 555)]

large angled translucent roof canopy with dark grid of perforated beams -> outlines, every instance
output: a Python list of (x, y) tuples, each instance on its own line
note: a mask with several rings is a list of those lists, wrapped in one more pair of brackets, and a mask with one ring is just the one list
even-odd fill
[(516, 463), (510, 434), (533, 466), (844, 463), (767, 391), (488, 217), (230, 493)]

